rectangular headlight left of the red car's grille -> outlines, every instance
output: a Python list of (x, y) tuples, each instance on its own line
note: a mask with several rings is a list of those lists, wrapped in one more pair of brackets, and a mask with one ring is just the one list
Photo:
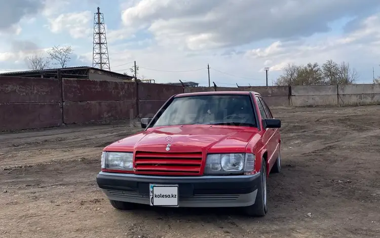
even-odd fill
[(133, 170), (133, 153), (128, 152), (104, 152), (101, 156), (102, 169)]

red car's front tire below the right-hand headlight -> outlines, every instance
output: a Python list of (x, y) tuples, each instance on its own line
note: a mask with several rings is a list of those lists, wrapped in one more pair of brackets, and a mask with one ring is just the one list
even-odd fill
[(261, 161), (261, 170), (259, 177), (259, 185), (257, 188), (255, 203), (245, 207), (244, 212), (248, 216), (262, 217), (268, 212), (268, 195), (267, 195), (267, 164), (264, 160)]

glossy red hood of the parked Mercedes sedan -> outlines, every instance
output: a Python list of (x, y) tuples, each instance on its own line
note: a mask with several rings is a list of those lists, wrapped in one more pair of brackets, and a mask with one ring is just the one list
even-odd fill
[(244, 152), (248, 142), (258, 133), (257, 128), (238, 126), (183, 125), (148, 130), (129, 136), (105, 148), (107, 151), (208, 152), (226, 150)]

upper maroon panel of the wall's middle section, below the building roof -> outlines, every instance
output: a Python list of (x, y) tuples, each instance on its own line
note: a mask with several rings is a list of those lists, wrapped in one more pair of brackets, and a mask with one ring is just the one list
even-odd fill
[(136, 86), (131, 82), (63, 79), (64, 101), (134, 100)]

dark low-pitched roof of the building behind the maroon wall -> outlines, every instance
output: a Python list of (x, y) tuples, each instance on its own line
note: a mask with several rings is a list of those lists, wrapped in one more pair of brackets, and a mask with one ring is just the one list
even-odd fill
[(123, 73), (117, 73), (117, 72), (112, 72), (100, 68), (94, 68), (94, 67), (89, 67), (89, 66), (77, 66), (77, 67), (65, 67), (65, 68), (49, 68), (49, 69), (42, 69), (42, 70), (27, 70), (27, 71), (15, 71), (15, 72), (5, 72), (5, 73), (0, 73), (0, 76), (41, 76), (43, 75), (50, 75), (54, 76), (57, 74), (57, 70), (61, 70), (61, 75), (64, 77), (67, 77), (71, 75), (71, 77), (83, 77), (87, 76), (89, 70), (95, 70), (95, 71), (100, 71), (103, 73), (115, 75), (117, 77), (127, 77), (127, 78), (133, 78), (131, 75), (123, 74)]

